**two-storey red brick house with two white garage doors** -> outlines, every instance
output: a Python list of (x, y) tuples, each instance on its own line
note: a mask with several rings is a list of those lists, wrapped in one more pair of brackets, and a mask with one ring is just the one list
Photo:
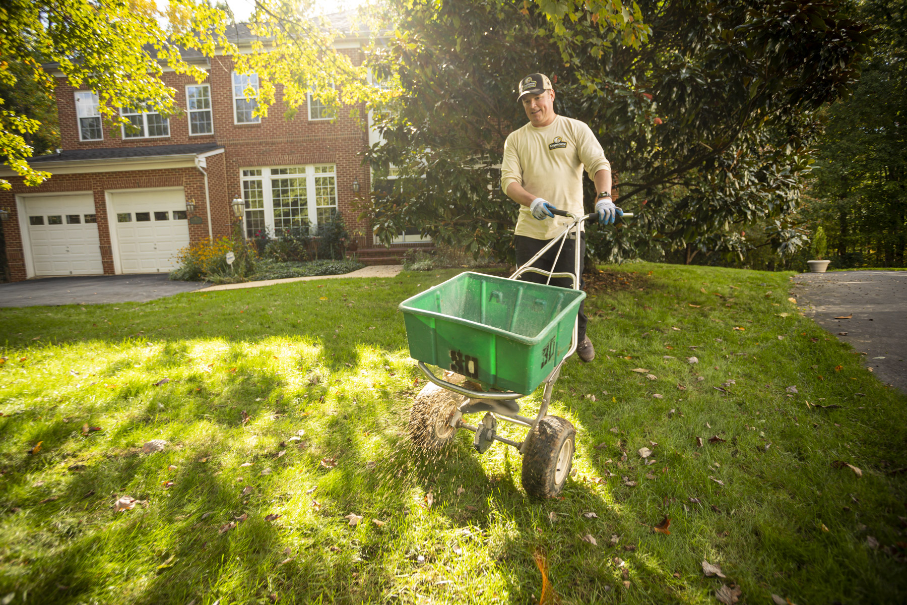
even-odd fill
[[(243, 24), (229, 34), (240, 48), (252, 39)], [(358, 63), (364, 42), (346, 36), (336, 45)], [(331, 120), (311, 97), (288, 121), (279, 86), (268, 117), (253, 117), (255, 101), (241, 91), (258, 86), (256, 75), (235, 73), (229, 55), (183, 56), (208, 78), (197, 83), (165, 71), (182, 112), (165, 118), (121, 110), (131, 130), (102, 124), (97, 95), (45, 66), (56, 77), (62, 151), (31, 161), (53, 174), (37, 187), (2, 171), (13, 183), (0, 191), (0, 208), (10, 213), (3, 229), (14, 281), (168, 272), (179, 249), (229, 235), (237, 196), (245, 200), (247, 237), (315, 225), (340, 211), (358, 247), (374, 245), (353, 203), (371, 190), (362, 154), (377, 141), (375, 132), (346, 110)]]

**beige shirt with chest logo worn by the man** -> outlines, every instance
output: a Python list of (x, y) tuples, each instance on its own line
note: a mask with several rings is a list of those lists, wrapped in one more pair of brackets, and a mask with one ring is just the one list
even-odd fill
[[(536, 197), (544, 198), (561, 210), (583, 213), (582, 169), (589, 178), (611, 165), (601, 144), (585, 122), (559, 115), (547, 126), (536, 128), (526, 123), (504, 141), (501, 187), (504, 193), (516, 182)], [(564, 217), (536, 220), (526, 206), (520, 206), (517, 235), (551, 239), (570, 222)]]

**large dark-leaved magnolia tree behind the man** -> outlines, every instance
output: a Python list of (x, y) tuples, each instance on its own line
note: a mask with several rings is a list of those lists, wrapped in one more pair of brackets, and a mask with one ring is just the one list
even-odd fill
[[(846, 7), (407, 3), (373, 57), (402, 90), (376, 113), (384, 141), (370, 161), (395, 176), (367, 209), (376, 233), (389, 241), (415, 227), (510, 256), (517, 209), (498, 166), (506, 135), (526, 122), (516, 83), (542, 72), (556, 111), (599, 137), (617, 203), (639, 213), (633, 229), (590, 229), (592, 254), (681, 249), (689, 262), (703, 249), (796, 249), (805, 238), (789, 217), (821, 132), (817, 111), (848, 93), (868, 50)], [(741, 226), (756, 222), (764, 229), (754, 242)]]

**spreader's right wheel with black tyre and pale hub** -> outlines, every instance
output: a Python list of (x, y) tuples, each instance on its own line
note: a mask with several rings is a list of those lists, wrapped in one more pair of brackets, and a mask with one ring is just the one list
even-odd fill
[(535, 498), (561, 493), (570, 476), (576, 429), (559, 416), (545, 416), (526, 437), (522, 488)]

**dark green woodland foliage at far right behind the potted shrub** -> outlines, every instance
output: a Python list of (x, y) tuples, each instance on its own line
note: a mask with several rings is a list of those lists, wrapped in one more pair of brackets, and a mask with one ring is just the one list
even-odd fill
[(861, 5), (879, 28), (873, 56), (853, 97), (826, 112), (810, 210), (836, 252), (833, 267), (907, 263), (905, 9), (903, 0)]

